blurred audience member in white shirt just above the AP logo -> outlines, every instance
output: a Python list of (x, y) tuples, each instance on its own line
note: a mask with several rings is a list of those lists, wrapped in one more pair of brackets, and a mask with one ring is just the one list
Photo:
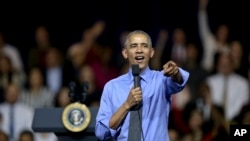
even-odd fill
[(225, 118), (229, 122), (239, 114), (245, 104), (249, 103), (248, 81), (235, 73), (232, 62), (228, 53), (218, 54), (217, 71), (207, 78), (212, 101), (223, 107)]

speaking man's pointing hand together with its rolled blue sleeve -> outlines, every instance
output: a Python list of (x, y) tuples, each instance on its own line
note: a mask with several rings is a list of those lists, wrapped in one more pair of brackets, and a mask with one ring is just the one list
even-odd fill
[(168, 61), (163, 66), (163, 73), (166, 76), (168, 94), (183, 90), (189, 78), (189, 72), (179, 68), (173, 61)]

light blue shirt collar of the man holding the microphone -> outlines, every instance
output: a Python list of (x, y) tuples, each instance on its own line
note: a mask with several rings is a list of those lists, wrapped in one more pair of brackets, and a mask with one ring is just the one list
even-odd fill
[[(149, 66), (147, 66), (141, 73), (140, 73), (140, 77), (142, 78), (142, 80), (144, 80), (146, 83), (149, 82), (150, 79), (150, 71), (151, 69), (149, 68)], [(127, 73), (127, 76), (129, 78), (129, 81), (132, 82), (134, 81), (134, 76), (132, 74), (132, 68), (129, 68), (129, 71)]]

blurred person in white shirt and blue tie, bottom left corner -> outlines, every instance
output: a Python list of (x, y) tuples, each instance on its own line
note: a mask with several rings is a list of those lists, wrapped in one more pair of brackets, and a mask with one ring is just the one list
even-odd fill
[(19, 102), (19, 96), (20, 88), (14, 83), (8, 84), (5, 88), (5, 101), (0, 105), (2, 116), (0, 129), (7, 133), (9, 141), (18, 140), (19, 134), (23, 130), (31, 130), (34, 111)]

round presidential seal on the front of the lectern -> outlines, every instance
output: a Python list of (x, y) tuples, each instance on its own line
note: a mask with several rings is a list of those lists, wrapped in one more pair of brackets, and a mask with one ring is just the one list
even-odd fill
[(81, 132), (90, 123), (91, 114), (85, 104), (75, 102), (69, 104), (62, 113), (64, 127), (71, 132)]

